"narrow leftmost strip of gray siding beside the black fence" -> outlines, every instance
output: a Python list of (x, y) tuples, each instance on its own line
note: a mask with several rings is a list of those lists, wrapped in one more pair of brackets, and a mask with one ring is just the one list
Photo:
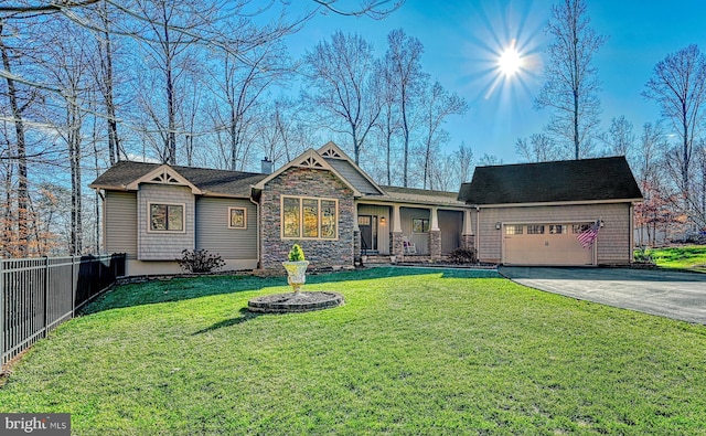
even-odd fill
[(137, 193), (106, 191), (103, 244), (106, 253), (137, 258)]

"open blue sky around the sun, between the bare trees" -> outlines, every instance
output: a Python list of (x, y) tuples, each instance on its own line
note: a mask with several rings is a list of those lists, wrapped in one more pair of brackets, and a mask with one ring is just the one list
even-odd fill
[[(402, 28), (425, 46), (424, 70), (469, 102), (463, 117), (449, 119), (449, 148), (461, 141), (477, 158), (498, 156), (517, 162), (515, 141), (541, 132), (549, 114), (536, 111), (544, 47), (543, 26), (549, 18), (549, 0), (429, 1), (407, 0), (382, 21), (367, 18), (320, 15), (288, 40), (292, 55), (301, 55), (335, 30), (359, 33), (371, 41), (377, 55), (386, 50), (386, 35)], [(688, 44), (706, 51), (706, 3), (692, 0), (588, 0), (588, 15), (599, 34), (608, 36), (595, 59), (600, 93), (602, 128), (624, 115), (639, 136), (642, 125), (660, 118), (659, 108), (641, 93), (654, 65)], [(496, 81), (493, 71), (502, 49), (516, 40), (528, 56), (526, 70), (511, 81)]]

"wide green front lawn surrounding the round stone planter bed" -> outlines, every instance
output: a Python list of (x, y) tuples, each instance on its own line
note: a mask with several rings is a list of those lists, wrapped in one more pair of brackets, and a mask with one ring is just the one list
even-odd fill
[(343, 307), (246, 312), (285, 278), (122, 286), (40, 341), (0, 412), (77, 435), (706, 434), (706, 326), (470, 270), (309, 278)]

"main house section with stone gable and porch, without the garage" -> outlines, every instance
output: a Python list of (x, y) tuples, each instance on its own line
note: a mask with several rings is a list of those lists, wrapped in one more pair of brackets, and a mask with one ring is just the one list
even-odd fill
[(379, 185), (333, 142), (269, 174), (121, 161), (90, 188), (105, 198), (104, 249), (127, 253), (129, 275), (176, 273), (183, 249), (271, 269), (298, 243), (323, 268), (361, 254), (403, 260), (404, 240), (415, 259), (438, 260), (470, 241), (456, 192)]

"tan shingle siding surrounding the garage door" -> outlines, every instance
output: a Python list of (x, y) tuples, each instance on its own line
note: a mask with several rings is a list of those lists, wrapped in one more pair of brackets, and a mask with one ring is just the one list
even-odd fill
[(630, 203), (481, 209), (478, 257), (501, 260), (502, 232), (495, 230), (499, 222), (582, 223), (598, 219), (605, 223), (596, 242), (598, 264), (630, 263)]

